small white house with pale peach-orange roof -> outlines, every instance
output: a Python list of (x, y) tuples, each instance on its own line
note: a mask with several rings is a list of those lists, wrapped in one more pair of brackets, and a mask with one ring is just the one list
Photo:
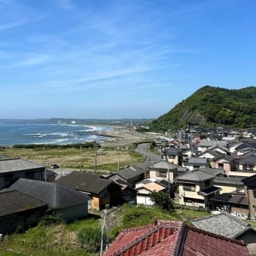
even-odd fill
[(166, 191), (166, 187), (157, 184), (154, 181), (151, 181), (151, 179), (146, 179), (144, 181), (139, 182), (136, 184), (136, 191), (137, 191), (137, 204), (145, 205), (145, 206), (153, 206), (154, 201), (151, 200), (151, 193), (152, 192), (160, 192)]

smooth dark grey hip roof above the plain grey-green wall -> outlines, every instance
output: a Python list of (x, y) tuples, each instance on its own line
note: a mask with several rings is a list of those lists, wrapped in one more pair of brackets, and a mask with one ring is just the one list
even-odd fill
[(6, 190), (19, 190), (47, 203), (55, 209), (76, 206), (90, 200), (87, 194), (74, 189), (62, 187), (53, 182), (36, 181), (27, 178), (19, 178)]

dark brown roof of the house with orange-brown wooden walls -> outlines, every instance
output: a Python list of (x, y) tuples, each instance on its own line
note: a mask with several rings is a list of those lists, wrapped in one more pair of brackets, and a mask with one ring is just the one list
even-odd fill
[(99, 194), (110, 184), (114, 184), (113, 181), (100, 178), (99, 175), (78, 171), (62, 176), (55, 182), (64, 187), (70, 187), (91, 194)]

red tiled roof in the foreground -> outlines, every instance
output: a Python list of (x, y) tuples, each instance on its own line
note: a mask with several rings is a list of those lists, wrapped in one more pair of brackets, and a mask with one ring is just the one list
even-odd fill
[(245, 242), (210, 233), (181, 221), (155, 221), (121, 230), (104, 252), (112, 255), (248, 255)]

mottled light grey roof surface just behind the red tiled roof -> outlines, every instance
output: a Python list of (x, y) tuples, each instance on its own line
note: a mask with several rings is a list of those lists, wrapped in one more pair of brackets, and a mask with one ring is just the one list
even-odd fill
[(236, 236), (245, 232), (248, 228), (251, 228), (250, 224), (239, 220), (227, 212), (221, 212), (218, 215), (200, 218), (192, 221), (192, 224), (202, 230), (230, 238), (236, 238)]

